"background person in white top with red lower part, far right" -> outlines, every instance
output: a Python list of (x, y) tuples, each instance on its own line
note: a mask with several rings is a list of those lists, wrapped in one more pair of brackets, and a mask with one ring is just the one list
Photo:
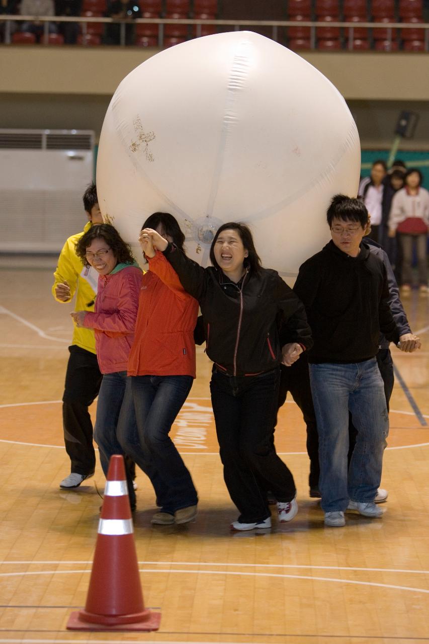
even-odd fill
[(413, 247), (417, 251), (419, 290), (428, 292), (428, 228), (429, 192), (421, 186), (423, 176), (415, 168), (405, 175), (405, 187), (399, 190), (393, 200), (388, 219), (389, 237), (398, 234), (403, 254), (402, 286), (403, 292), (412, 288)]

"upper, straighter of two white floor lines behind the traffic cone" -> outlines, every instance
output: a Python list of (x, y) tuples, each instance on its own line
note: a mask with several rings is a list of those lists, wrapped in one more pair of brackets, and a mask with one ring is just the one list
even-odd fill
[[(64, 560), (23, 560), (23, 561), (3, 561), (0, 565), (90, 565), (92, 561), (64, 561)], [(363, 573), (406, 573), (406, 574), (429, 574), (428, 570), (414, 570), (406, 568), (362, 568), (356, 566), (341, 565), (300, 565), (300, 564), (232, 564), (231, 562), (152, 562), (139, 561), (138, 565), (213, 565), (237, 568), (288, 568), (288, 569), (309, 569), (309, 570), (345, 570), (357, 571)], [(17, 573), (20, 574), (20, 573)]]

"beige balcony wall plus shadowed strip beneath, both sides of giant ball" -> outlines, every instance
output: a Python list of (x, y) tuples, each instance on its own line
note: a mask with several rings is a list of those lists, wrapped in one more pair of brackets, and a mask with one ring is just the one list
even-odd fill
[[(1, 128), (93, 129), (124, 76), (156, 50), (0, 47)], [(389, 148), (399, 112), (419, 113), (402, 149), (429, 149), (429, 54), (307, 53), (338, 87), (362, 147)]]

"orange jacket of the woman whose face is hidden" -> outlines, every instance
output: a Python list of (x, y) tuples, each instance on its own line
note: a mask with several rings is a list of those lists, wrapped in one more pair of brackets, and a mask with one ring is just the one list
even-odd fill
[(195, 378), (194, 328), (198, 302), (184, 290), (162, 252), (142, 278), (128, 375)]

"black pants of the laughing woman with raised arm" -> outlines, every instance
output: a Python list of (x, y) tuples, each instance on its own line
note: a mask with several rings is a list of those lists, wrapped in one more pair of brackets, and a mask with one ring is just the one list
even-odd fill
[(276, 454), (272, 428), (280, 370), (233, 377), (213, 368), (210, 383), (220, 458), (229, 495), (240, 511), (238, 520), (254, 523), (270, 516), (266, 490), (278, 501), (296, 494), (291, 472)]

